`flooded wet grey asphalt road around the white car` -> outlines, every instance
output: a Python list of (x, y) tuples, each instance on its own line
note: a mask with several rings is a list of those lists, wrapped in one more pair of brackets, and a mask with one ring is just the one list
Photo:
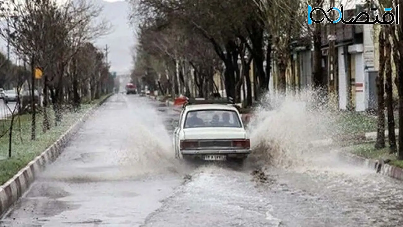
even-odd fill
[(173, 159), (177, 113), (114, 95), (85, 123), (0, 226), (403, 226), (403, 184), (318, 151), (268, 167)]

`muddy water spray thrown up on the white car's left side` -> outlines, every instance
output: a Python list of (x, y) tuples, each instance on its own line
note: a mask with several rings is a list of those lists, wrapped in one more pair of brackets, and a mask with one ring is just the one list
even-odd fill
[(166, 129), (169, 119), (146, 98), (128, 102), (134, 113), (127, 132), (125, 149), (118, 154), (121, 168), (139, 172), (181, 172), (183, 164), (174, 158), (172, 135)]

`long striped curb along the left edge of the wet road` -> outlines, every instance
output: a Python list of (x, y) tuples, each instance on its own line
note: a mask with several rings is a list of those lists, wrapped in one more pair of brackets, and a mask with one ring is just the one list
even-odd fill
[(17, 174), (0, 186), (0, 218), (13, 206), (13, 204), (29, 189), (29, 186), (37, 174), (42, 171), (47, 163), (52, 163), (60, 155), (63, 148), (75, 135), (84, 122), (102, 105), (109, 97), (109, 94), (99, 103), (91, 107), (73, 126), (69, 128), (59, 139), (50, 147), (43, 151), (39, 156), (22, 168)]

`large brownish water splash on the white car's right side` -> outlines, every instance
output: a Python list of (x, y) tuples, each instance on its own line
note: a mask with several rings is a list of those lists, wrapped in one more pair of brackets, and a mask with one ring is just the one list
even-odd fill
[(322, 93), (314, 90), (265, 95), (248, 125), (251, 160), (285, 168), (318, 162), (320, 153), (309, 142), (340, 133), (335, 108), (323, 103)]

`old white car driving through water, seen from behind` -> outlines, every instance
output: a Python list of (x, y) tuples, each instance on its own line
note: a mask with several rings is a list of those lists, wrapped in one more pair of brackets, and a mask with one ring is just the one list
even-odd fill
[(188, 101), (174, 130), (175, 157), (243, 163), (250, 139), (238, 109), (216, 101)]

